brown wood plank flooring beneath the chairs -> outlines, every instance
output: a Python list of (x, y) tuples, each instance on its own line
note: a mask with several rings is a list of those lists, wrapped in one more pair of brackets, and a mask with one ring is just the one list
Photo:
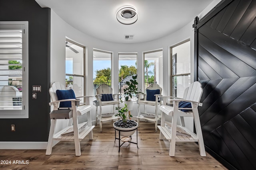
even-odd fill
[[(154, 123), (140, 122), (138, 147), (124, 143), (118, 153), (113, 123), (102, 124), (93, 129), (93, 140), (85, 137), (80, 142), (81, 156), (75, 156), (74, 142), (60, 141), (52, 149), (46, 150), (0, 150), (0, 160), (10, 160), (11, 164), (0, 164), (3, 170), (227, 170), (210, 154), (199, 154), (194, 142), (176, 143), (175, 156), (169, 156), (170, 143), (159, 140), (159, 130), (154, 132)], [(136, 133), (132, 135), (136, 142)], [(20, 162), (16, 162), (16, 161)], [(14, 162), (13, 162), (14, 161)], [(27, 164), (26, 164), (27, 163)]]

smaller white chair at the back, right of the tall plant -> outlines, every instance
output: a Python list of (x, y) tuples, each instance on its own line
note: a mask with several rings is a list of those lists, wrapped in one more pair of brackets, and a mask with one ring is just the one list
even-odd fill
[[(162, 94), (162, 88), (156, 84), (153, 83), (150, 86), (146, 88), (146, 90), (160, 90), (160, 94), (155, 94), (156, 100), (155, 101), (148, 101), (147, 99), (147, 94), (138, 94), (138, 126), (140, 126), (140, 119), (145, 119), (146, 121), (154, 122), (155, 123), (155, 131), (157, 131), (157, 122), (160, 120), (161, 115), (158, 115), (158, 105), (161, 105), (161, 101), (158, 101), (158, 97), (161, 96)], [(143, 96), (143, 98), (142, 98)], [(145, 113), (140, 112), (140, 105), (144, 105), (144, 111)], [(155, 106), (155, 113), (147, 113), (146, 111), (146, 106)]]

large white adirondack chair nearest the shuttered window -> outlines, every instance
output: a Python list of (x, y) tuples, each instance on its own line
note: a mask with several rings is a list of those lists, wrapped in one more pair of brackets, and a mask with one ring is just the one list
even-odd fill
[[(69, 126), (57, 133), (55, 132), (55, 127), (56, 127), (56, 121), (58, 118), (51, 119), (50, 133), (49, 133), (49, 138), (48, 138), (48, 143), (46, 148), (46, 155), (50, 155), (52, 153), (52, 147), (53, 147), (52, 144), (53, 144), (53, 141), (56, 140), (56, 141), (74, 141), (76, 156), (80, 156), (81, 155), (80, 141), (84, 139), (84, 137), (86, 137), (87, 135), (89, 135), (90, 140), (92, 140), (93, 138), (92, 129), (95, 126), (92, 125), (92, 119), (91, 119), (91, 113), (90, 113), (90, 111), (92, 110), (92, 106), (89, 105), (90, 104), (89, 97), (93, 97), (93, 96), (81, 96), (81, 97), (76, 97), (76, 99), (58, 100), (56, 90), (67, 90), (67, 89), (63, 84), (60, 84), (60, 82), (54, 82), (52, 84), (52, 87), (49, 89), (49, 93), (52, 99), (52, 102), (50, 102), (49, 105), (54, 106), (53, 111), (65, 112), (67, 111), (67, 109), (59, 110), (60, 102), (71, 101), (72, 108), (70, 108), (70, 111), (72, 111), (72, 116), (71, 116), (72, 118), (69, 121)], [(80, 102), (80, 99), (78, 98), (85, 98), (86, 104), (82, 104), (81, 106), (76, 106)], [(87, 122), (84, 122), (78, 125), (78, 116), (84, 113), (87, 113)], [(61, 114), (61, 113), (58, 113), (58, 114)], [(73, 125), (72, 125), (72, 122), (73, 122)], [(84, 127), (84, 128), (82, 129), (82, 131), (79, 132), (78, 127)], [(74, 135), (63, 135), (63, 133), (70, 131), (70, 129), (73, 129)]]

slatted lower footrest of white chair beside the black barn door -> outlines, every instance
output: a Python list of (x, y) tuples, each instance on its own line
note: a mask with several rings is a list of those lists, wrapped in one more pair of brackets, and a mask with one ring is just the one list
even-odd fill
[[(172, 132), (170, 132), (170, 130), (166, 126), (157, 126), (157, 127), (168, 141), (172, 140)], [(190, 136), (176, 135), (177, 142), (197, 142), (198, 141), (198, 137), (196, 136), (195, 133), (189, 131), (185, 127), (182, 127), (182, 126), (178, 126), (178, 127), (186, 131), (186, 133)]]

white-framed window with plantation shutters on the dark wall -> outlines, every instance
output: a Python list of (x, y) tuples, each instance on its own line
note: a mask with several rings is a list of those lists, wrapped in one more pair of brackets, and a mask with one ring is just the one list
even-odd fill
[(0, 118), (28, 118), (28, 21), (0, 21)]

